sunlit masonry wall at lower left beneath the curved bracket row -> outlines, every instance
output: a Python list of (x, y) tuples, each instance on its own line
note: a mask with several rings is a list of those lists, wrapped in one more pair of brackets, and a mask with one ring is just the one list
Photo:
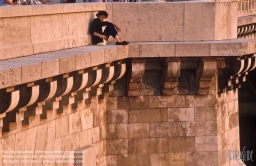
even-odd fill
[[(44, 155), (59, 156), (51, 151), (62, 151), (62, 158), (52, 159), (52, 161), (65, 160), (67, 152), (74, 154), (77, 149), (84, 149), (88, 145), (92, 145), (90, 149), (85, 149), (84, 164), (90, 166), (105, 166), (105, 146), (106, 146), (106, 101), (96, 100), (92, 98), (90, 104), (85, 101), (80, 102), (77, 110), (71, 110), (70, 105), (64, 108), (63, 114), (57, 114), (56, 110), (48, 111), (48, 119), (40, 120), (39, 116), (30, 117), (30, 125), (22, 126), (17, 124), (16, 130), (3, 133), (0, 139), (0, 151), (32, 151), (32, 154), (38, 151), (46, 152)], [(49, 151), (49, 152), (47, 152)], [(10, 166), (12, 164), (5, 163), (7, 158), (0, 154), (0, 165)], [(8, 154), (6, 154), (8, 155)], [(9, 154), (10, 155), (10, 154)], [(18, 155), (18, 154), (16, 154)], [(19, 153), (22, 155), (22, 153)], [(23, 155), (28, 155), (27, 153)], [(29, 154), (31, 155), (31, 154)], [(41, 154), (42, 155), (42, 154)], [(37, 154), (37, 160), (39, 154)], [(12, 159), (12, 158), (11, 158)], [(27, 160), (36, 160), (36, 158), (28, 157)], [(9, 159), (10, 160), (10, 159)], [(51, 160), (45, 158), (41, 161)], [(72, 163), (22, 163), (18, 162), (12, 166), (39, 166), (39, 165), (74, 165)]]

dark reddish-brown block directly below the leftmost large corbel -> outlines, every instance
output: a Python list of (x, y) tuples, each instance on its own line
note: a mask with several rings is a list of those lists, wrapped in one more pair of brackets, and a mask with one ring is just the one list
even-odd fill
[(129, 97), (129, 100), (130, 100), (130, 109), (148, 108), (148, 105), (149, 105), (148, 96)]

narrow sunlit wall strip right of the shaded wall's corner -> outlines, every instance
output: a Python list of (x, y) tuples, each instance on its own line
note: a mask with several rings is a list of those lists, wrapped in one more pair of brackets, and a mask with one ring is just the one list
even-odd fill
[(219, 95), (217, 103), (219, 164), (235, 165), (238, 161), (232, 151), (240, 151), (238, 90)]

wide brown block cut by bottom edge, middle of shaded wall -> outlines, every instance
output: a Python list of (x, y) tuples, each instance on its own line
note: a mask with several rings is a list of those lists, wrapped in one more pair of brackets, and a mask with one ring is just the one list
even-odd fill
[(186, 165), (186, 153), (166, 153), (152, 154), (150, 156), (150, 166)]

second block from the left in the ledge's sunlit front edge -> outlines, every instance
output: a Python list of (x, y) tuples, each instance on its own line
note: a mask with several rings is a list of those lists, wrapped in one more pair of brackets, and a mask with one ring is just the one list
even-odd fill
[(21, 83), (40, 80), (42, 77), (41, 63), (34, 63), (21, 67)]

